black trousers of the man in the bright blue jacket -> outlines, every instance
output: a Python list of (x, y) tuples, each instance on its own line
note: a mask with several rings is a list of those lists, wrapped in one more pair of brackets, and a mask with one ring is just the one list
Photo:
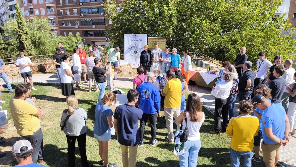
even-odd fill
[(157, 117), (157, 113), (156, 114), (143, 113), (142, 119), (140, 120), (140, 130), (139, 130), (140, 141), (143, 141), (143, 139), (144, 139), (145, 126), (146, 126), (148, 118), (150, 121), (152, 141), (156, 138), (156, 117)]

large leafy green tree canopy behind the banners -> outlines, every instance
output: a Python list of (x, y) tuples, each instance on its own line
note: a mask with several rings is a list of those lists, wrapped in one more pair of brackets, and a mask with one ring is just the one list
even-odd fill
[[(165, 37), (167, 47), (201, 52), (234, 63), (241, 47), (255, 63), (258, 53), (273, 60), (295, 58), (295, 28), (276, 16), (281, 0), (106, 1), (110, 39), (123, 47), (124, 34)], [(119, 12), (118, 12), (119, 11)], [(284, 32), (284, 33), (282, 33)]]

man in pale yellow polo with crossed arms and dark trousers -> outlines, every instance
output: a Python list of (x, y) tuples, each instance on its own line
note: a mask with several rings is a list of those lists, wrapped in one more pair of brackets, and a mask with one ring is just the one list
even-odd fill
[(17, 129), (17, 134), (30, 141), (33, 147), (32, 160), (34, 163), (43, 163), (43, 133), (41, 131), (39, 117), (43, 115), (40, 107), (33, 106), (25, 101), (31, 89), (25, 84), (19, 84), (15, 88), (15, 97), (9, 101), (9, 109), (12, 120)]

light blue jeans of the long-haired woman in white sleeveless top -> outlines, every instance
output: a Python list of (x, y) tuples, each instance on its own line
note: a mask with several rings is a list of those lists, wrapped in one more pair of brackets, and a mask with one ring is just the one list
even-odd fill
[(187, 140), (185, 142), (184, 154), (179, 155), (180, 167), (196, 167), (200, 147), (200, 140)]

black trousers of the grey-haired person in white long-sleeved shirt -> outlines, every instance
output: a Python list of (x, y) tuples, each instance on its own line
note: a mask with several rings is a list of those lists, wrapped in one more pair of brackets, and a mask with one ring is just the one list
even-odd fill
[[(216, 133), (220, 133), (222, 129), (223, 132), (226, 132), (227, 127), (227, 119), (228, 119), (228, 106), (229, 106), (229, 99), (215, 99), (215, 113), (214, 113), (214, 131)], [(223, 119), (223, 124), (221, 127), (221, 114)]]

